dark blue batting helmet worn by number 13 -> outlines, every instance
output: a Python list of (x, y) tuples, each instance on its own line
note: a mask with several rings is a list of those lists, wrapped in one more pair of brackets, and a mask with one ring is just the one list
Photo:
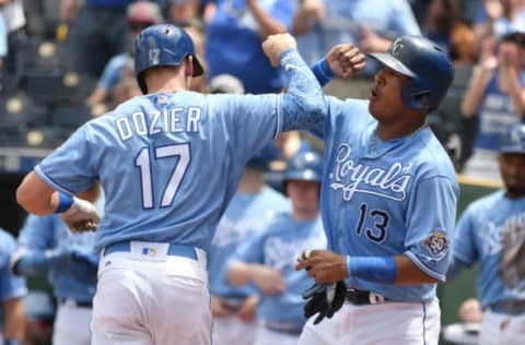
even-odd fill
[(369, 56), (411, 79), (402, 87), (401, 97), (413, 109), (438, 108), (454, 79), (447, 53), (421, 36), (402, 36), (392, 43), (387, 52)]

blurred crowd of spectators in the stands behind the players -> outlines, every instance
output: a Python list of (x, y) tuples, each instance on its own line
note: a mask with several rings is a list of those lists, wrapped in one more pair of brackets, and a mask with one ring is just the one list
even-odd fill
[[(284, 88), (261, 50), (276, 33), (292, 33), (308, 64), (339, 43), (380, 52), (397, 36), (431, 38), (448, 51), (456, 74), (429, 124), (457, 172), (472, 179), (501, 181), (499, 138), (524, 121), (523, 0), (0, 0), (0, 147), (55, 148), (83, 122), (141, 94), (132, 43), (163, 22), (191, 36), (205, 67), (191, 87), (210, 93)], [(368, 62), (358, 78), (335, 80), (326, 92), (368, 97), (377, 69)], [(323, 151), (308, 133), (285, 133), (275, 144), (266, 179), (281, 191), (280, 162)], [(49, 337), (52, 304), (37, 295), (27, 300), (28, 325), (40, 320), (27, 332)]]

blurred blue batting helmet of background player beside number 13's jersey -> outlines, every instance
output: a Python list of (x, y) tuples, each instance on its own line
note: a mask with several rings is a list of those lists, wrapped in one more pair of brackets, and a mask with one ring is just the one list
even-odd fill
[(288, 160), (284, 181), (304, 180), (320, 182), (322, 179), (323, 159), (315, 152), (300, 152)]

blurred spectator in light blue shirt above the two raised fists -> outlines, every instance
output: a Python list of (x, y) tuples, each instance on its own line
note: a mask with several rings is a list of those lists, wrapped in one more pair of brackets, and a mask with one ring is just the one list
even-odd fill
[[(421, 34), (407, 0), (303, 0), (294, 29), (308, 63), (341, 43), (351, 43), (363, 52), (384, 52), (393, 38)], [(375, 71), (371, 67), (365, 69), (370, 76)]]

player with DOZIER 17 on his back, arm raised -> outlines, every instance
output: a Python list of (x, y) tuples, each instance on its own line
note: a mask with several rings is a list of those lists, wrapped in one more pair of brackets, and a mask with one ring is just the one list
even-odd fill
[(94, 344), (210, 344), (206, 251), (246, 160), (281, 131), (326, 115), (294, 38), (271, 36), (264, 49), (289, 76), (287, 93), (205, 95), (187, 91), (202, 67), (186, 32), (145, 28), (135, 49), (144, 95), (79, 128), (19, 187), (25, 210), (59, 212), (82, 231), (100, 216), (71, 195), (102, 182)]

